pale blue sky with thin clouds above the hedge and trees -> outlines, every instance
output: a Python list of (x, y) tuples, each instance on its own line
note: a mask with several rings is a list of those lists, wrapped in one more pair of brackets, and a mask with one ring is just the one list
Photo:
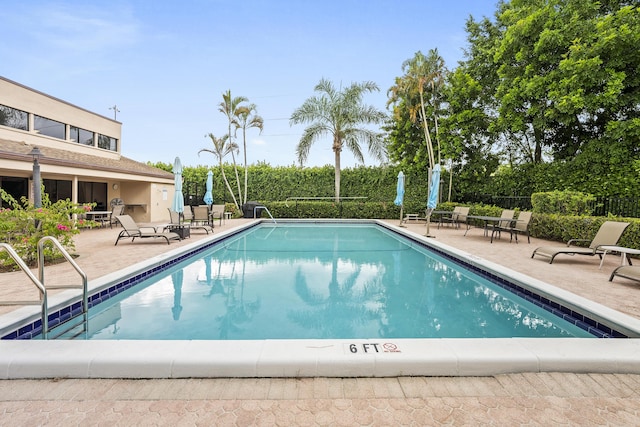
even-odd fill
[[(402, 63), (438, 49), (464, 59), (465, 23), (493, 18), (497, 0), (30, 0), (0, 8), (0, 75), (122, 123), (122, 155), (216, 166), (213, 133), (228, 132), (222, 94), (256, 104), (247, 161), (298, 165), (304, 125), (292, 112), (325, 78), (373, 81), (363, 102), (387, 111)], [(2, 94), (0, 94), (1, 103)], [(115, 108), (114, 108), (115, 107)], [(238, 142), (242, 145), (241, 133)], [(305, 166), (334, 164), (331, 137)], [(366, 151), (366, 146), (363, 146)], [(242, 154), (238, 158), (242, 164)], [(231, 159), (225, 159), (231, 161)], [(348, 152), (342, 168), (360, 165)], [(365, 155), (365, 165), (378, 164)]]

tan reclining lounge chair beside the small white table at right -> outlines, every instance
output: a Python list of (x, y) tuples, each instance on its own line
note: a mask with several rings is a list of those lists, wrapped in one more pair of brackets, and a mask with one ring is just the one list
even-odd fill
[(533, 251), (531, 258), (539, 255), (549, 258), (549, 264), (560, 254), (567, 255), (598, 255), (602, 259), (602, 250), (600, 246), (615, 246), (620, 240), (622, 233), (629, 226), (628, 222), (605, 221), (600, 226), (595, 237), (591, 241), (588, 248), (581, 246), (571, 246), (574, 242), (588, 242), (588, 239), (571, 239), (567, 242), (567, 246), (541, 246)]

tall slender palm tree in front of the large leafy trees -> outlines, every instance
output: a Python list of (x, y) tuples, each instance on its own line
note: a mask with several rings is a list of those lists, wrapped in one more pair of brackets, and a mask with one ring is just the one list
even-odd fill
[[(409, 105), (409, 117), (411, 120), (416, 122), (420, 119), (424, 129), (424, 138), (427, 143), (429, 167), (433, 169), (435, 156), (433, 143), (431, 141), (431, 132), (429, 131), (429, 124), (427, 123), (425, 91), (431, 91), (429, 100), (431, 100), (435, 109), (437, 89), (443, 84), (445, 71), (444, 59), (438, 54), (437, 49), (429, 50), (428, 56), (424, 56), (422, 52), (418, 51), (413, 58), (402, 63), (402, 71), (404, 72), (404, 76), (396, 78), (395, 86), (389, 89), (388, 104), (397, 104), (404, 99), (407, 105)], [(411, 99), (415, 99), (416, 94), (420, 99), (420, 104), (411, 105)], [(437, 117), (435, 118), (435, 123), (437, 129)], [(438, 156), (439, 155), (438, 150)], [(438, 163), (440, 163), (440, 161), (438, 161)]]

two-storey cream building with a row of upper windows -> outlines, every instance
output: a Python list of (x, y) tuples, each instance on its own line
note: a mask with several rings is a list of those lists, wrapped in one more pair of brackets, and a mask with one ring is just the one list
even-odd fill
[(0, 188), (33, 200), (34, 147), (52, 202), (108, 210), (120, 200), (137, 222), (168, 220), (172, 173), (121, 155), (122, 123), (0, 76)]

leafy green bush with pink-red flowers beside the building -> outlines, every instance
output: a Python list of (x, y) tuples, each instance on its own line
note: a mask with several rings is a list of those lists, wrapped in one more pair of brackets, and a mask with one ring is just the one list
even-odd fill
[[(87, 212), (90, 205), (78, 206), (69, 199), (51, 203), (43, 192), (42, 207), (22, 197), (21, 203), (0, 188), (0, 198), (8, 208), (0, 209), (0, 241), (8, 243), (29, 266), (38, 262), (38, 242), (44, 236), (52, 236), (72, 253), (75, 250), (73, 235), (80, 232), (74, 215)], [(94, 221), (83, 221), (84, 226), (96, 225)], [(44, 245), (45, 261), (59, 258), (60, 252), (51, 244)], [(0, 252), (0, 270), (16, 268), (15, 262), (6, 251)]]

